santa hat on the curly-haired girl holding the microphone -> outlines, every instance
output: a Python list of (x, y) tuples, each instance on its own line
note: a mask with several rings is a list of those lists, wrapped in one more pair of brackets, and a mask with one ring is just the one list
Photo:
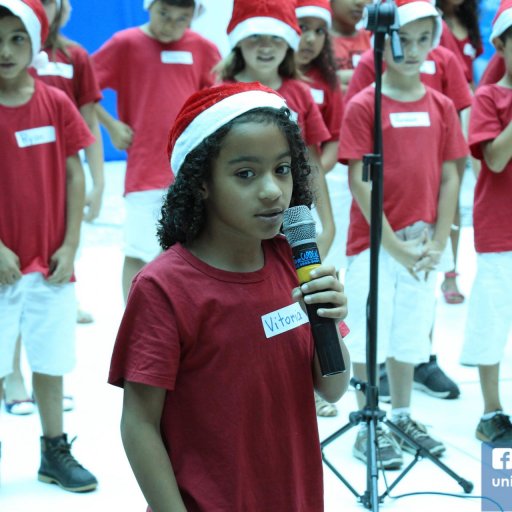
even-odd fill
[(259, 107), (281, 109), (286, 107), (286, 101), (259, 82), (229, 82), (190, 96), (169, 132), (167, 152), (174, 175), (178, 174), (187, 155), (206, 137)]

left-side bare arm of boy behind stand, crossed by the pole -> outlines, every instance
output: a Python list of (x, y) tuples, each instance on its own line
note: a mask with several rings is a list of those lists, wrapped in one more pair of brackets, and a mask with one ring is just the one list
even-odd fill
[[(349, 185), (354, 199), (369, 224), (371, 217), (371, 186), (369, 182), (363, 181), (363, 162), (361, 160), (350, 161)], [(422, 247), (425, 242), (426, 238), (424, 236), (414, 240), (400, 240), (395, 235), (386, 215), (382, 215), (382, 246), (416, 278), (414, 267), (423, 255)]]

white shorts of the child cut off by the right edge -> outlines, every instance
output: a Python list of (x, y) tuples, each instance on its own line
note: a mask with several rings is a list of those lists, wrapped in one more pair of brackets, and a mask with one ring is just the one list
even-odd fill
[(512, 252), (477, 254), (460, 362), (493, 365), (503, 359), (512, 327)]

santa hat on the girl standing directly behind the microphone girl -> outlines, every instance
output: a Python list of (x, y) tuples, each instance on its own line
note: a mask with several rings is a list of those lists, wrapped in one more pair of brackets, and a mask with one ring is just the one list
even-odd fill
[(297, 50), (300, 28), (295, 4), (296, 0), (235, 0), (227, 28), (231, 48), (242, 39), (259, 34), (281, 37)]

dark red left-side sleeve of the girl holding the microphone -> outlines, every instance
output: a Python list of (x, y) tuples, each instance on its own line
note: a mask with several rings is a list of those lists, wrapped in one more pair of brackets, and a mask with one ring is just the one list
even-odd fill
[(140, 275), (133, 281), (117, 334), (108, 381), (174, 389), (180, 360), (178, 328), (161, 288)]

